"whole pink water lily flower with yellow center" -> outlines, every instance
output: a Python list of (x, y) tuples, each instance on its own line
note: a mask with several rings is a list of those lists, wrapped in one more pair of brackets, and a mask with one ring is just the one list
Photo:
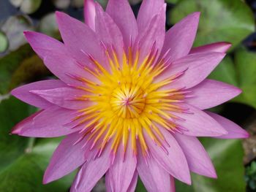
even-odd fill
[(91, 191), (105, 174), (108, 191), (175, 191), (190, 171), (217, 177), (196, 137), (245, 138), (235, 123), (205, 110), (241, 91), (208, 74), (230, 44), (192, 48), (200, 13), (165, 33), (164, 0), (144, 0), (137, 20), (127, 0), (106, 12), (87, 0), (86, 24), (56, 12), (64, 43), (25, 32), (59, 80), (23, 85), (12, 95), (41, 108), (13, 134), (66, 136), (45, 172), (49, 183), (80, 167), (71, 191)]

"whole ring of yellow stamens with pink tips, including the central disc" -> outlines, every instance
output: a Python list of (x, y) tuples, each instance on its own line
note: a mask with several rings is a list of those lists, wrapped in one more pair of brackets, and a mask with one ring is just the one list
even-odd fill
[(167, 58), (156, 59), (157, 53), (153, 46), (140, 61), (139, 50), (132, 54), (129, 47), (128, 53), (123, 51), (120, 57), (112, 47), (105, 50), (109, 69), (103, 68), (91, 55), (87, 56), (94, 64), (94, 70), (80, 65), (99, 80), (94, 83), (84, 77), (74, 77), (83, 82), (84, 86), (78, 88), (87, 93), (77, 99), (91, 103), (74, 119), (84, 125), (80, 133), (91, 141), (91, 148), (96, 147), (101, 153), (110, 142), (111, 154), (115, 155), (118, 147), (122, 147), (125, 154), (129, 143), (134, 155), (137, 155), (138, 147), (143, 155), (148, 155), (145, 134), (162, 147), (165, 137), (159, 126), (172, 132), (182, 131), (175, 123), (178, 116), (172, 112), (186, 112), (187, 109), (178, 105), (185, 92), (182, 88), (165, 90), (165, 85), (183, 72), (155, 82), (155, 77), (168, 65)]

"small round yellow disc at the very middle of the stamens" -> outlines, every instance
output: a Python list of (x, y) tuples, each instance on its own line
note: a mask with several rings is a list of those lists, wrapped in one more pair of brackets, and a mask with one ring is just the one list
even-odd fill
[(146, 93), (136, 85), (122, 84), (111, 96), (110, 105), (120, 118), (138, 118), (146, 104)]

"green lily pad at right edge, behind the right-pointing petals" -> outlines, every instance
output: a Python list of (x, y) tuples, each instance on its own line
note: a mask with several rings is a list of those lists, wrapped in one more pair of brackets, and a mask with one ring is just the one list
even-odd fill
[(233, 99), (256, 108), (256, 53), (238, 47), (234, 59), (230, 56), (222, 61), (208, 78), (227, 82), (241, 88), (241, 95)]

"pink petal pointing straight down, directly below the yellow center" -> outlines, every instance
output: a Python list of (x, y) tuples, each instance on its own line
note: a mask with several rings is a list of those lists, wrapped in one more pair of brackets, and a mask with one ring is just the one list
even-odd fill
[(123, 148), (119, 147), (115, 161), (106, 174), (106, 177), (109, 177), (108, 180), (112, 191), (126, 192), (132, 182), (132, 177), (136, 169), (136, 159), (130, 145), (129, 142), (124, 158)]

